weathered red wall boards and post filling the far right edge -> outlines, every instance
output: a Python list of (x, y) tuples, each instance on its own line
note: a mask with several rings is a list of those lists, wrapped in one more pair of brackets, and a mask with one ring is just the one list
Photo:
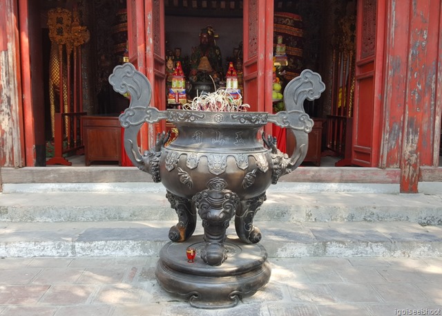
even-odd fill
[(400, 191), (440, 181), (442, 3), (385, 1), (385, 91), (381, 168), (400, 169)]

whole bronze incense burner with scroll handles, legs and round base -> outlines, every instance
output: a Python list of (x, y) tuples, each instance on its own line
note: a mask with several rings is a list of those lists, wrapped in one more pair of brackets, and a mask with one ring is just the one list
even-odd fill
[[(307, 154), (308, 133), (314, 123), (303, 102), (317, 99), (325, 90), (320, 75), (305, 70), (289, 82), (284, 92), (286, 111), (276, 114), (159, 111), (149, 106), (151, 84), (132, 64), (115, 67), (109, 82), (115, 91), (131, 95), (130, 106), (119, 118), (129, 158), (166, 187), (166, 197), (178, 216), (178, 223), (169, 230), (171, 243), (160, 254), (159, 283), (200, 308), (231, 307), (253, 295), (267, 284), (271, 273), (267, 252), (256, 245), (262, 235), (253, 218), (266, 200), (267, 188), (296, 169)], [(137, 135), (142, 124), (160, 120), (177, 127), (177, 138), (166, 145), (169, 135), (163, 131), (155, 148), (141, 153)], [(294, 133), (296, 148), (291, 157), (276, 148), (272, 136), (258, 137), (269, 122)], [(200, 259), (189, 268), (184, 259), (188, 243), (195, 237), (197, 212), (204, 235), (198, 241)], [(226, 236), (233, 218), (239, 238), (234, 242)], [(247, 252), (253, 259), (245, 263), (233, 250)], [(226, 285), (228, 276), (234, 277)]]

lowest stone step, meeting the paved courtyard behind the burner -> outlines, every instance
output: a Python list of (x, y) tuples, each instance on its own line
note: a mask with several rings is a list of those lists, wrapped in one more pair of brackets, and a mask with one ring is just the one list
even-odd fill
[[(158, 256), (173, 221), (0, 223), (0, 257)], [(441, 257), (442, 227), (256, 221), (269, 257)], [(234, 225), (229, 236), (236, 237)], [(202, 234), (200, 223), (194, 235)]]

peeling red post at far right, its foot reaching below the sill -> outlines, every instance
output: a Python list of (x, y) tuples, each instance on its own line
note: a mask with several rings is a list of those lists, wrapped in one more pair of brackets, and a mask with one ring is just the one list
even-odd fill
[[(412, 2), (412, 3), (411, 3)], [(419, 167), (430, 165), (439, 54), (439, 0), (410, 1), (410, 37), (405, 99), (401, 192), (417, 193)]]

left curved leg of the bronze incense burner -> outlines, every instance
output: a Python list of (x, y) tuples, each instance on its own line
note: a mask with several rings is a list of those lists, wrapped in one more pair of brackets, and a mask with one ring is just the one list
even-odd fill
[(192, 201), (167, 192), (166, 198), (178, 215), (178, 223), (169, 230), (171, 241), (182, 242), (192, 236), (196, 227), (196, 210)]

